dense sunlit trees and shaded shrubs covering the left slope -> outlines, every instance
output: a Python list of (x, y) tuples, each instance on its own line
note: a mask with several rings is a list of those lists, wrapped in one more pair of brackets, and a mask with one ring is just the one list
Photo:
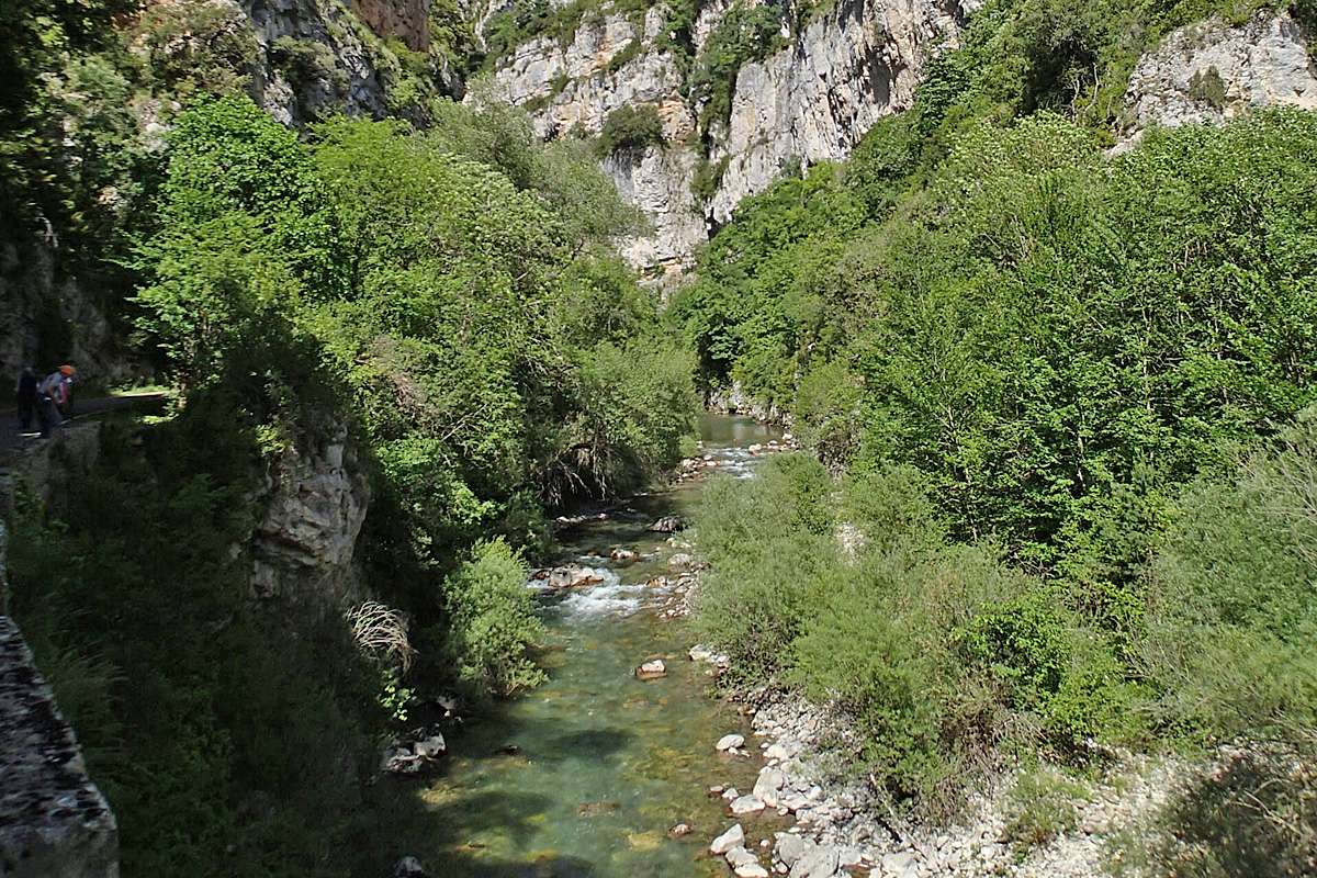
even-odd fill
[[(412, 692), (540, 682), (545, 512), (645, 483), (691, 430), (693, 361), (607, 246), (637, 216), (587, 143), (436, 97), (465, 63), (441, 8), (429, 58), (358, 34), (408, 121), (329, 100), (298, 132), (244, 92), (262, 63), (341, 88), (321, 43), (262, 58), (209, 4), (29, 5), (0, 25), (4, 232), (113, 272), (103, 305), (176, 398), (24, 500), (9, 609), (125, 874), (383, 874), (363, 783)], [(263, 504), (329, 441), (373, 495), (360, 582), (257, 598)]]

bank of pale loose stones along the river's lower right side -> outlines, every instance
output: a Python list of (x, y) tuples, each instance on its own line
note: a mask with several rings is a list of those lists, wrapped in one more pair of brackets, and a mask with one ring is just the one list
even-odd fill
[[(693, 657), (726, 661), (703, 646)], [(757, 691), (741, 700), (752, 711), (763, 766), (748, 795), (730, 791), (728, 821), (776, 811), (794, 824), (772, 839), (747, 840), (740, 823), (720, 832), (710, 852), (740, 878), (759, 870), (790, 878), (1102, 875), (1121, 856), (1110, 842), (1122, 829), (1146, 827), (1189, 771), (1175, 760), (1119, 758), (1100, 781), (1065, 787), (1069, 800), (1058, 806), (1073, 817), (1065, 831), (1027, 844), (1017, 837), (1027, 827), (1011, 796), (1018, 771), (1004, 771), (973, 796), (960, 823), (921, 825), (898, 817), (865, 779), (848, 777), (836, 756), (855, 744), (844, 716), (788, 692)]]

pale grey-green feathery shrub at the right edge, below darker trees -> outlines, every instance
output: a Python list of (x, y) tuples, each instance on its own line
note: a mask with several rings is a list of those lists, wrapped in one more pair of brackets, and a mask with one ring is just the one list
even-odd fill
[(1139, 658), (1164, 723), (1196, 738), (1317, 721), (1313, 412), (1179, 504), (1150, 571)]

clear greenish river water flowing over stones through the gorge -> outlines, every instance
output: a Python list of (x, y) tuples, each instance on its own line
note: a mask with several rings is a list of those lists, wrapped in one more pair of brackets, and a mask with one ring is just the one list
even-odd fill
[[(747, 419), (715, 416), (703, 420), (702, 433), (716, 470), (741, 478), (753, 463), (744, 448), (774, 438)], [(614, 575), (540, 595), (549, 682), (449, 736), (445, 771), (421, 792), (440, 825), (429, 850), (415, 852), (435, 874), (728, 874), (705, 852), (735, 820), (707, 787), (748, 792), (759, 760), (716, 753), (714, 742), (728, 732), (745, 735), (752, 749), (756, 740), (732, 706), (711, 698), (707, 667), (689, 659), (695, 640), (687, 623), (660, 616), (674, 595), (644, 584), (668, 574), (668, 557), (682, 550), (648, 525), (687, 513), (701, 486), (635, 498), (607, 520), (560, 534), (562, 562), (611, 565)], [(614, 546), (643, 559), (623, 566), (591, 554)], [(637, 681), (633, 669), (656, 656), (668, 677)], [(741, 824), (755, 844), (772, 837), (777, 821), (769, 815)], [(670, 839), (668, 829), (680, 823), (690, 835)]]

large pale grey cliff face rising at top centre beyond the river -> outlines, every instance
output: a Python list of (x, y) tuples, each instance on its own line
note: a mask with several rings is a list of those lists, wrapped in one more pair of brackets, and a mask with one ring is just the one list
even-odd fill
[[(691, 29), (695, 65), (731, 5), (716, 0), (702, 8)], [(525, 105), (547, 138), (573, 129), (598, 134), (620, 107), (655, 107), (665, 145), (615, 153), (603, 170), (653, 225), (652, 234), (622, 241), (620, 249), (660, 284), (689, 267), (694, 249), (741, 199), (785, 171), (844, 158), (874, 121), (909, 107), (919, 71), (939, 45), (955, 41), (965, 7), (840, 0), (790, 33), (785, 47), (744, 65), (730, 117), (707, 129), (699, 107), (687, 101), (682, 61), (665, 42), (666, 14), (656, 5), (641, 20), (606, 5), (570, 42), (539, 37), (518, 46), (493, 78), (495, 93)], [(701, 166), (722, 168), (706, 201), (691, 192)]]

